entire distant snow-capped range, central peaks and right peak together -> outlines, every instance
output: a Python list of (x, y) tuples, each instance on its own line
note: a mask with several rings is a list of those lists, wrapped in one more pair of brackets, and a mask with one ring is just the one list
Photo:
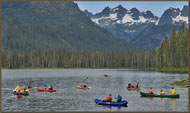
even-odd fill
[(106, 7), (102, 12), (88, 17), (115, 37), (150, 50), (156, 48), (172, 28), (178, 29), (182, 23), (188, 25), (188, 6), (185, 5), (182, 10), (169, 8), (157, 17), (151, 11), (140, 12), (137, 8), (127, 10), (119, 5), (112, 9)]

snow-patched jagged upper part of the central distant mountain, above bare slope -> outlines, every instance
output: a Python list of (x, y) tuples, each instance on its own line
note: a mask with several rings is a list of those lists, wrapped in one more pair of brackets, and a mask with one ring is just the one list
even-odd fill
[[(86, 10), (87, 12), (87, 10)], [(87, 13), (86, 13), (87, 14)], [(90, 13), (89, 13), (90, 14)], [(96, 24), (112, 25), (112, 24), (126, 24), (134, 25), (141, 23), (155, 23), (158, 17), (154, 16), (151, 11), (140, 12), (136, 8), (127, 10), (121, 5), (111, 9), (105, 7), (101, 13), (91, 16), (91, 20)]]

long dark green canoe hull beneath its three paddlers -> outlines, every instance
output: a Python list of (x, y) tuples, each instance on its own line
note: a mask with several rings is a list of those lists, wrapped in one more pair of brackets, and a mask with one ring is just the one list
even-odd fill
[(145, 92), (140, 92), (142, 97), (162, 97), (162, 98), (179, 98), (179, 94), (174, 95), (158, 95), (158, 94), (150, 94)]

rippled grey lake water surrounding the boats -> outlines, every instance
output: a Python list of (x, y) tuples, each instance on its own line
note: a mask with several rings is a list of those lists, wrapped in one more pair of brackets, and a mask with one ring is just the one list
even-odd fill
[[(104, 77), (104, 74), (110, 77)], [(90, 90), (77, 89), (86, 80)], [(129, 91), (129, 82), (141, 84), (141, 91), (153, 87), (155, 93), (170, 91), (171, 83), (184, 80), (188, 74), (166, 74), (155, 71), (119, 69), (55, 69), (55, 70), (2, 70), (2, 111), (188, 111), (188, 88), (174, 86), (179, 99), (145, 98), (138, 91)], [(17, 98), (12, 90), (20, 86), (45, 88), (54, 85), (56, 92), (30, 92)], [(96, 105), (95, 98), (120, 93), (128, 107)]]

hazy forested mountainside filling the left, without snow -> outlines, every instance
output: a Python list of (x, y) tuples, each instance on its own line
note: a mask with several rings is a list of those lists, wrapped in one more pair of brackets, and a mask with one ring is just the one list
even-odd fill
[(74, 2), (2, 2), (2, 48), (124, 52), (133, 47), (95, 25)]

